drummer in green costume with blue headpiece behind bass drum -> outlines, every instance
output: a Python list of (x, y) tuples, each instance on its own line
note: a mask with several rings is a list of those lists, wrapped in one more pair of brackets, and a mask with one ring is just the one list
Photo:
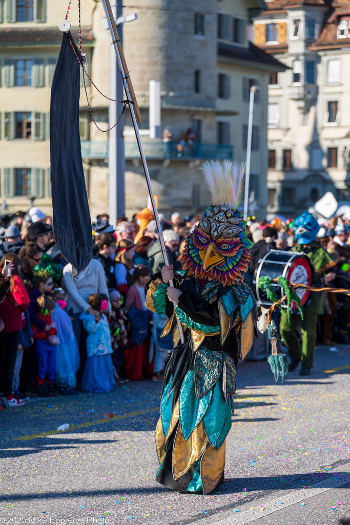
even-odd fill
[[(336, 274), (330, 271), (335, 266), (335, 262), (322, 245), (316, 241), (319, 229), (320, 226), (311, 213), (304, 212), (300, 217), (297, 217), (294, 222), (294, 230), (298, 244), (292, 250), (304, 252), (311, 259), (315, 277), (322, 278), (323, 284), (332, 281)], [(300, 315), (296, 313), (290, 313), (288, 319), (287, 311), (283, 310), (280, 334), (292, 359), (289, 372), (296, 370), (301, 361), (300, 375), (310, 375), (315, 349), (317, 316), (323, 313), (323, 308), (322, 293), (312, 293), (310, 301), (303, 311), (304, 319), (301, 319)], [(301, 346), (295, 335), (299, 323), (301, 323)]]

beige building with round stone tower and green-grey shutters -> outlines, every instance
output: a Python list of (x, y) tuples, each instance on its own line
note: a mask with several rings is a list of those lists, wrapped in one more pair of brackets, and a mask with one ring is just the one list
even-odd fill
[[(68, 4), (68, 2), (67, 2)], [(78, 2), (69, 20), (78, 40)], [(143, 135), (154, 192), (167, 216), (201, 211), (208, 193), (198, 170), (203, 159), (246, 160), (249, 88), (259, 85), (254, 109), (251, 188), (264, 216), (268, 203), (267, 86), (284, 68), (249, 43), (260, 0), (135, 0), (123, 14), (137, 19), (123, 27), (123, 48), (143, 124), (149, 128), (149, 81), (161, 82), (161, 138)], [(0, 195), (10, 211), (35, 205), (50, 213), (50, 86), (59, 53), (58, 22), (66, 5), (54, 0), (0, 0)], [(81, 0), (82, 51), (96, 85), (109, 95), (110, 35), (99, 0)], [(108, 104), (87, 84), (98, 125), (108, 129)], [(91, 215), (108, 211), (108, 134), (91, 122), (83, 84), (80, 97), (82, 156)], [(139, 153), (125, 116), (125, 207), (131, 216), (147, 204)], [(171, 142), (163, 130), (171, 127)], [(179, 151), (191, 128), (193, 143)]]

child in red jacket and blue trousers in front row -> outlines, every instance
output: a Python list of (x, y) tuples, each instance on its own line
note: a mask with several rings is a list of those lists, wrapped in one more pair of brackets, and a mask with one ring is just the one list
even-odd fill
[(56, 373), (56, 346), (59, 344), (55, 324), (52, 323), (52, 314), (55, 310), (55, 301), (43, 294), (37, 299), (36, 317), (42, 321), (45, 328), (33, 325), (36, 341), (36, 355), (38, 358), (38, 394), (43, 397), (58, 395), (55, 390)]

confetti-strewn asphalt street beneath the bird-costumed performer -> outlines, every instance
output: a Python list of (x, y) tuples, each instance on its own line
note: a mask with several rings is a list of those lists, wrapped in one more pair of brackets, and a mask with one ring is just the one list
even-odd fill
[[(350, 519), (350, 348), (274, 384), (239, 365), (227, 482), (209, 496), (158, 485), (161, 385), (35, 398), (0, 413), (0, 523), (332, 525)], [(57, 427), (69, 424), (65, 432)]]

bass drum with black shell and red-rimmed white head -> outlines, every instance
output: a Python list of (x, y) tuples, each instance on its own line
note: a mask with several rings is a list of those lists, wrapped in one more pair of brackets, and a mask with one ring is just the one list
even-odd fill
[[(303, 285), (311, 286), (313, 279), (313, 268), (311, 261), (303, 253), (295, 253), (294, 251), (270, 250), (261, 259), (255, 279), (255, 292), (258, 301), (258, 306), (270, 307), (272, 301), (267, 297), (266, 293), (258, 286), (261, 277), (271, 277), (276, 279), (279, 276), (284, 277), (288, 281), (298, 282)], [(277, 283), (271, 283), (278, 299), (281, 299), (283, 288)], [(296, 294), (300, 298), (301, 308), (305, 308), (310, 297), (310, 290), (297, 289)], [(282, 304), (282, 307), (287, 308), (287, 304)], [(292, 301), (292, 308), (296, 309), (296, 304)]]

